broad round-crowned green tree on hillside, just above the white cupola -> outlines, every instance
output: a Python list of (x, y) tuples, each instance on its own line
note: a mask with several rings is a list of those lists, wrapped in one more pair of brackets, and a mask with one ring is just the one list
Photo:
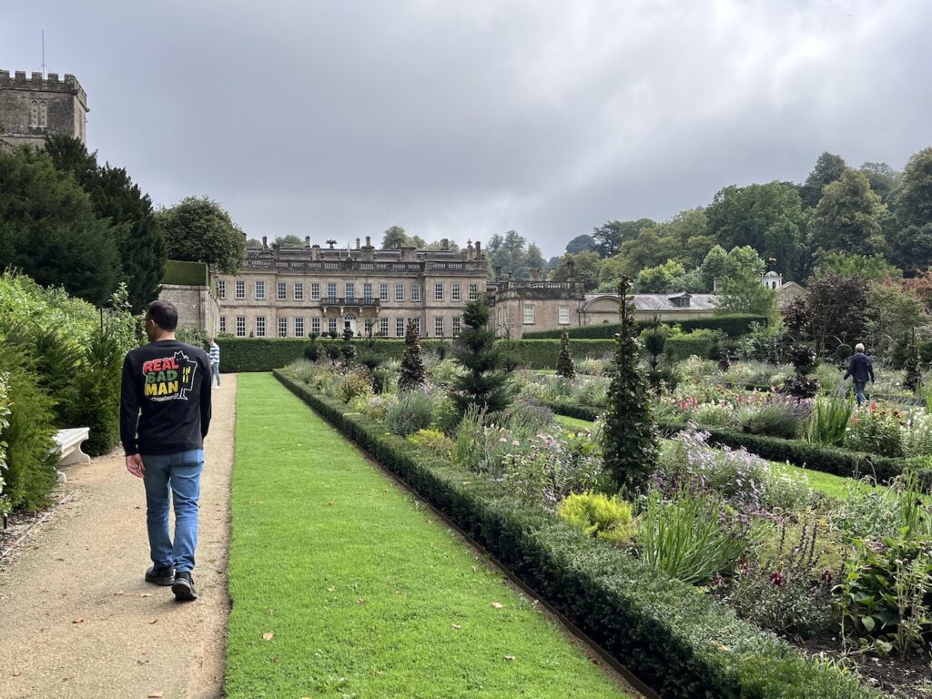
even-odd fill
[(805, 216), (796, 187), (782, 182), (727, 186), (706, 209), (708, 233), (726, 250), (749, 245), (789, 279), (805, 267)]

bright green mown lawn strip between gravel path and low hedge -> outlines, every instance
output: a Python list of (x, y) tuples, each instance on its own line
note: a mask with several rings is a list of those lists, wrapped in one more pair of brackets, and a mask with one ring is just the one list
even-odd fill
[(273, 377), (237, 404), (228, 697), (625, 696)]

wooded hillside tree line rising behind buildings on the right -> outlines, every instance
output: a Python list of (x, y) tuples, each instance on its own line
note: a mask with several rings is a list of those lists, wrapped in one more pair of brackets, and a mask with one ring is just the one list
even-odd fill
[(802, 184), (730, 185), (669, 221), (608, 221), (569, 240), (548, 267), (551, 279), (565, 281), (571, 260), (587, 291), (613, 290), (624, 275), (642, 293), (707, 293), (709, 271), (742, 249), (786, 281), (819, 270), (916, 276), (932, 265), (932, 148), (903, 171), (875, 162), (852, 168), (823, 153)]

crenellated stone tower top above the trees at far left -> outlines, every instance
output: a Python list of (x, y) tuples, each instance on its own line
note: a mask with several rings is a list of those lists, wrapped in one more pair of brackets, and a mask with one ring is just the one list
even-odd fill
[(0, 70), (0, 141), (43, 147), (51, 133), (87, 144), (88, 95), (74, 75)]

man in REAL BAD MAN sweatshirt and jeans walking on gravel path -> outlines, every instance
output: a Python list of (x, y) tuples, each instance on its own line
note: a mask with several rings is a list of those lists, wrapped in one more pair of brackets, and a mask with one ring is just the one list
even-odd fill
[[(210, 360), (175, 339), (178, 311), (153, 301), (145, 312), (149, 344), (123, 362), (120, 439), (126, 468), (143, 479), (152, 568), (145, 581), (171, 585), (179, 601), (198, 598), (191, 571), (198, 545), (203, 440), (211, 424)], [(169, 495), (174, 503), (174, 541)]]

